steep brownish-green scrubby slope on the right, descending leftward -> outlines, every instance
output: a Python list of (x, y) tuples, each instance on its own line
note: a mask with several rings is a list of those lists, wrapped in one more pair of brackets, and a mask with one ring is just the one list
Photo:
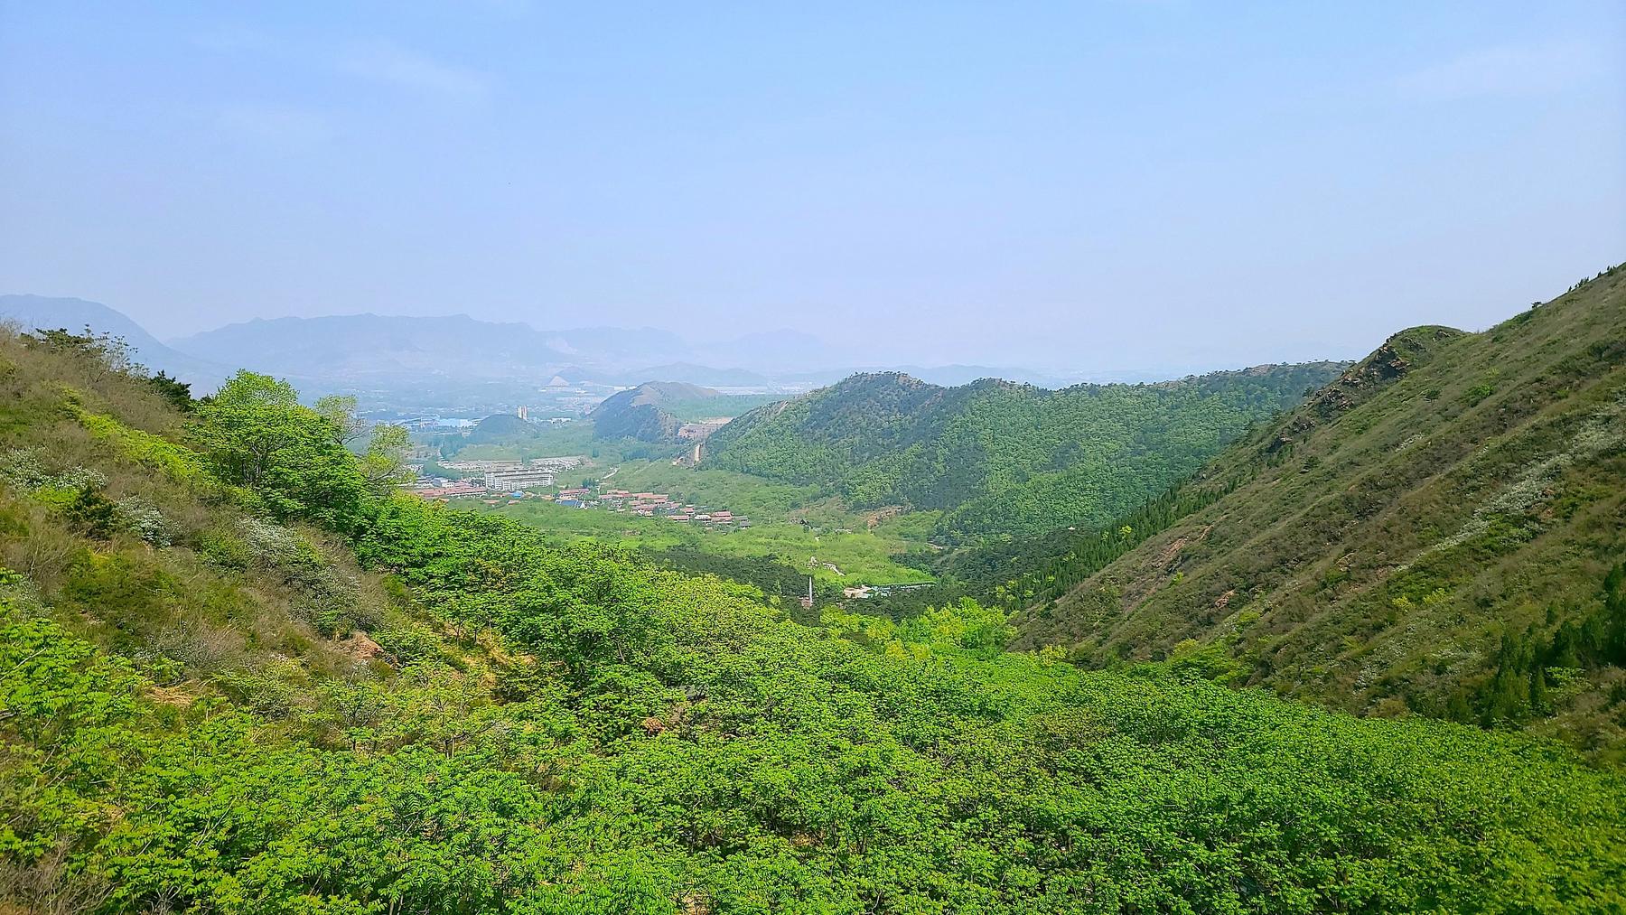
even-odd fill
[(1623, 445), (1615, 268), (1485, 333), (1395, 335), (1005, 595), (1028, 608), (1020, 644), (1086, 665), (1176, 658), (1353, 712), (1530, 725), (1619, 757)]

